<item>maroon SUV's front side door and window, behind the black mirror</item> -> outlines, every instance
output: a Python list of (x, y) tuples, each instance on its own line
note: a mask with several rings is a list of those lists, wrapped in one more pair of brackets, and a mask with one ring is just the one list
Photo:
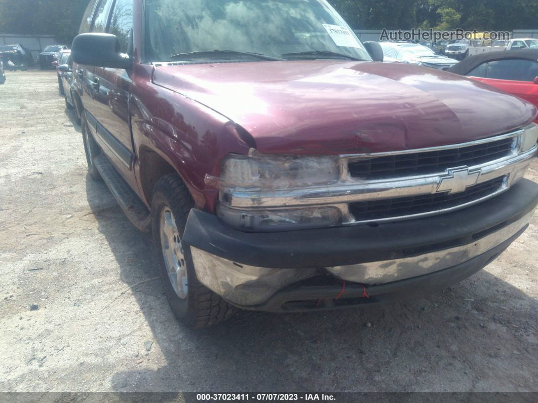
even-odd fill
[[(111, 1), (111, 0), (107, 0)], [(121, 52), (132, 56), (133, 0), (114, 0), (107, 29), (116, 35)], [(136, 187), (132, 171), (134, 153), (130, 128), (130, 70), (96, 67), (94, 70), (94, 107), (97, 119), (96, 140), (124, 178)]]

